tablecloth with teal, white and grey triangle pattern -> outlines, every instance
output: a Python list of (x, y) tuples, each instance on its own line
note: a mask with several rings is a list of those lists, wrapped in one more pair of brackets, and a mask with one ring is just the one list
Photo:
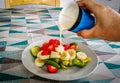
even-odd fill
[(21, 54), (30, 43), (59, 37), (56, 24), (61, 8), (0, 9), (0, 83), (118, 83), (120, 82), (120, 42), (83, 39), (64, 31), (63, 38), (79, 40), (98, 56), (97, 69), (88, 77), (74, 81), (54, 81), (30, 73)]

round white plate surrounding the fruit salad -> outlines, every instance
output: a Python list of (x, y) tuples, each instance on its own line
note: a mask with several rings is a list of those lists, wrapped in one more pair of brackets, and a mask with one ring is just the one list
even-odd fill
[(34, 58), (30, 54), (30, 49), (35, 45), (41, 46), (44, 42), (48, 41), (49, 39), (50, 38), (43, 39), (30, 44), (28, 47), (24, 49), (22, 53), (23, 65), (35, 75), (52, 80), (61, 80), (61, 81), (77, 80), (90, 75), (97, 67), (98, 59), (96, 54), (86, 45), (70, 39), (62, 39), (62, 43), (78, 42), (78, 48), (84, 51), (85, 53), (87, 53), (87, 55), (92, 59), (92, 61), (88, 63), (87, 66), (85, 66), (84, 68), (71, 67), (68, 68), (68, 70), (59, 70), (55, 74), (50, 74), (45, 69), (35, 66)]

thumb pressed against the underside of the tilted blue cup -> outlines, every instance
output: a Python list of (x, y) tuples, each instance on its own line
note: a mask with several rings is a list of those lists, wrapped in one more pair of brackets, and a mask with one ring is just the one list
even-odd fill
[(83, 38), (94, 38), (95, 37), (95, 27), (92, 29), (81, 30), (77, 33), (78, 36), (82, 36)]

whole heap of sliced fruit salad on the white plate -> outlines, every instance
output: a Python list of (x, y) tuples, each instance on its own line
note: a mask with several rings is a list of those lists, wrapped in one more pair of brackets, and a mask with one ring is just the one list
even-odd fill
[(59, 69), (67, 70), (72, 66), (83, 68), (91, 58), (80, 49), (76, 42), (60, 44), (58, 39), (50, 39), (41, 46), (30, 49), (38, 67), (46, 66), (49, 73), (56, 73)]

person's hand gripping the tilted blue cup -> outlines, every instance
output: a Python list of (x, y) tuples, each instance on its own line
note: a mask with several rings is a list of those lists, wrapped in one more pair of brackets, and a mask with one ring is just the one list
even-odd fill
[(96, 23), (89, 30), (77, 33), (83, 38), (101, 38), (111, 41), (120, 41), (120, 14), (108, 6), (100, 5), (94, 0), (80, 0), (77, 2), (81, 8), (94, 14)]

